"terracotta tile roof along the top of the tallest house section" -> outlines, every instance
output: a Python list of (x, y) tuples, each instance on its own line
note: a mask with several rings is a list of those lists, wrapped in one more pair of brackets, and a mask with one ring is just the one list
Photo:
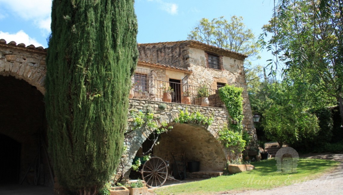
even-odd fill
[(202, 49), (207, 52), (215, 52), (221, 55), (229, 56), (229, 57), (236, 57), (240, 60), (244, 60), (246, 57), (248, 57), (245, 54), (241, 54), (238, 52), (230, 51), (227, 49), (211, 46), (206, 43), (202, 43), (200, 41), (195, 41), (195, 40), (184, 40), (184, 41), (170, 41), (170, 42), (158, 42), (158, 43), (138, 43), (139, 45), (158, 45), (158, 44), (182, 44), (185, 43), (190, 47)]

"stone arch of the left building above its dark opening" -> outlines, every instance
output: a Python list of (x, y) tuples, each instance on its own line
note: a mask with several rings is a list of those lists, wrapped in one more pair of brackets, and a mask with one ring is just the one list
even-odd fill
[(46, 76), (46, 49), (33, 45), (16, 44), (14, 41), (6, 44), (0, 39), (0, 75), (14, 76), (23, 79), (45, 94), (44, 81)]

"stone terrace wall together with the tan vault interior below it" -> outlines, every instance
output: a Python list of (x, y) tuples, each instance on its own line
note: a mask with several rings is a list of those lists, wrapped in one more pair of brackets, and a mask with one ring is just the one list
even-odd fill
[[(176, 126), (174, 132), (182, 132), (185, 130), (184, 139), (181, 141), (168, 138), (168, 135), (161, 135), (161, 145), (156, 147), (156, 155), (160, 155), (166, 160), (173, 162), (171, 157), (171, 151), (175, 151), (176, 158), (181, 159), (181, 153), (183, 154), (187, 148), (181, 147), (186, 146), (187, 143), (190, 148), (187, 149), (186, 160), (201, 160), (201, 168), (203, 170), (208, 169), (224, 169), (225, 155), (222, 150), (222, 146), (215, 139), (217, 137), (218, 130), (220, 130), (224, 124), (226, 124), (228, 113), (226, 108), (215, 108), (215, 107), (204, 107), (197, 105), (187, 104), (166, 104), (166, 109), (161, 109), (158, 106), (161, 102), (147, 101), (147, 100), (136, 100), (130, 99), (129, 112), (128, 112), (128, 132), (131, 131), (134, 126), (133, 118), (130, 112), (149, 112), (154, 113), (158, 126), (161, 126), (162, 122), (166, 122), (169, 125), (175, 125), (174, 119), (179, 116), (180, 110), (188, 109), (189, 112), (199, 111), (204, 116), (213, 116), (214, 121), (209, 127), (202, 127), (199, 125), (190, 126)], [(188, 131), (189, 130), (189, 131)], [(171, 130), (173, 132), (173, 130)], [(141, 148), (143, 142), (152, 132), (148, 129), (137, 129), (125, 135), (125, 148), (126, 152), (121, 158), (121, 164), (119, 165), (117, 174), (125, 174), (126, 177), (131, 169), (132, 160), (136, 156), (137, 151)], [(177, 134), (173, 135), (173, 138), (177, 137)], [(199, 134), (199, 137), (198, 137)], [(191, 136), (196, 137), (196, 139)], [(201, 138), (201, 139), (200, 139)], [(162, 141), (165, 140), (163, 144)], [(171, 141), (173, 140), (173, 143)], [(190, 141), (193, 140), (193, 141)]]

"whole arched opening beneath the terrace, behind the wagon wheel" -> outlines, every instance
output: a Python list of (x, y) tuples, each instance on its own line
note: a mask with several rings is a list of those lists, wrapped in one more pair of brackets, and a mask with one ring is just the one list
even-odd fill
[[(172, 122), (169, 125), (173, 125), (173, 129), (160, 134), (157, 140), (158, 144), (153, 146), (153, 150), (150, 152), (152, 155), (168, 161), (170, 165), (168, 168), (169, 174), (173, 172), (173, 176), (179, 179), (174, 174), (177, 170), (175, 161), (176, 164), (181, 163), (183, 165), (183, 168), (178, 168), (178, 171), (185, 170), (187, 178), (212, 177), (222, 173), (226, 163), (225, 153), (220, 142), (215, 139), (210, 131), (198, 124), (175, 124)], [(133, 164), (135, 160), (142, 157), (151, 148), (153, 142), (149, 140), (150, 137), (152, 136), (150, 135), (137, 151), (135, 158), (132, 160)], [(200, 163), (199, 170), (196, 171), (201, 172), (199, 176), (196, 173), (189, 174), (194, 169), (190, 171), (188, 164), (194, 162)], [(141, 178), (141, 173), (131, 170), (129, 178)]]

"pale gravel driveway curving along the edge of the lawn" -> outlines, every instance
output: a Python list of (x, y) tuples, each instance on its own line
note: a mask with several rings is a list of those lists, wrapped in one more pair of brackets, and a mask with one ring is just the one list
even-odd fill
[(301, 157), (330, 159), (342, 162), (333, 171), (324, 174), (320, 178), (303, 183), (277, 187), (271, 190), (249, 190), (243, 192), (222, 192), (219, 194), (235, 195), (336, 195), (343, 194), (343, 154), (318, 154)]

